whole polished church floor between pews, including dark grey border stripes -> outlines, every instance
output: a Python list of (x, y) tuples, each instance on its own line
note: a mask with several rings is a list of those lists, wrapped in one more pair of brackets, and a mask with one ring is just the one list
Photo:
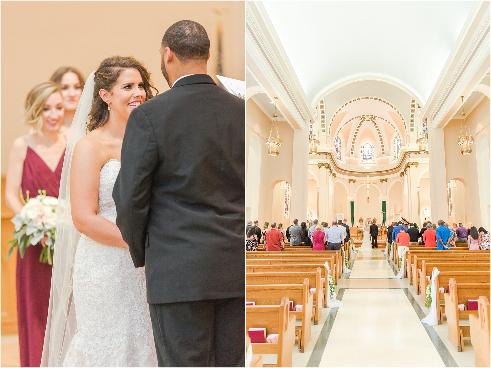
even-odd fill
[[(324, 309), (312, 326), (304, 353), (295, 345), (294, 367), (474, 367), (474, 350), (464, 339), (457, 353), (447, 339), (446, 320), (427, 326), (420, 319), (429, 309), (408, 279), (394, 279), (384, 249), (358, 251), (351, 274), (337, 286), (340, 308)], [(264, 355), (276, 363), (276, 355)]]

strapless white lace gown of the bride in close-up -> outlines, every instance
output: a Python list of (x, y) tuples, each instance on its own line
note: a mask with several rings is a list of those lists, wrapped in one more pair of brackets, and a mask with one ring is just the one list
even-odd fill
[[(101, 168), (97, 214), (116, 221), (112, 188), (121, 164)], [(73, 299), (77, 331), (63, 367), (158, 367), (144, 267), (128, 248), (98, 243), (82, 234), (75, 254)]]

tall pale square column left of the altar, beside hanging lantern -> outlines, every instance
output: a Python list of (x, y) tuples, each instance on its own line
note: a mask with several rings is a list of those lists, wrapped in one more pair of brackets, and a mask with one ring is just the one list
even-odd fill
[[(306, 127), (308, 127), (308, 121)], [(293, 131), (292, 189), (290, 219), (307, 218), (308, 129)]]

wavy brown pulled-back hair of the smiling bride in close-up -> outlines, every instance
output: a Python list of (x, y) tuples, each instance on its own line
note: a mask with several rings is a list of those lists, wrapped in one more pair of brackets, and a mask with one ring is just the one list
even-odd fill
[(116, 55), (105, 58), (94, 73), (94, 96), (88, 115), (87, 131), (93, 131), (96, 128), (106, 125), (109, 119), (108, 104), (101, 98), (99, 91), (105, 89), (111, 92), (121, 71), (132, 68), (140, 72), (144, 84), (143, 88), (147, 95), (145, 101), (150, 100), (154, 96), (152, 89), (156, 91), (156, 95), (159, 94), (159, 91), (150, 80), (150, 73), (143, 66), (142, 62), (136, 60), (133, 56)]

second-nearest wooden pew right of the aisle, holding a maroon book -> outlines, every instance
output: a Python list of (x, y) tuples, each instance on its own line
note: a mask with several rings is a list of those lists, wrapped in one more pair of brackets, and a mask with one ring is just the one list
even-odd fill
[(450, 279), (450, 292), (445, 293), (445, 315), (447, 316), (448, 340), (457, 351), (462, 351), (464, 337), (470, 337), (470, 327), (460, 326), (460, 319), (478, 315), (478, 311), (459, 311), (458, 304), (467, 305), (468, 299), (478, 299), (483, 295), (490, 298), (491, 284), (457, 284)]

